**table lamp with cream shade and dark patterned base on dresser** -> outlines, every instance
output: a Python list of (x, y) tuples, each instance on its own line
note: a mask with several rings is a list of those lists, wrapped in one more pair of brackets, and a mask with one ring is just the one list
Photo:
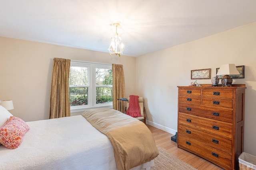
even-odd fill
[(233, 82), (231, 75), (240, 75), (240, 72), (236, 69), (235, 64), (223, 64), (216, 75), (223, 76), (221, 80), (222, 86), (231, 87)]

